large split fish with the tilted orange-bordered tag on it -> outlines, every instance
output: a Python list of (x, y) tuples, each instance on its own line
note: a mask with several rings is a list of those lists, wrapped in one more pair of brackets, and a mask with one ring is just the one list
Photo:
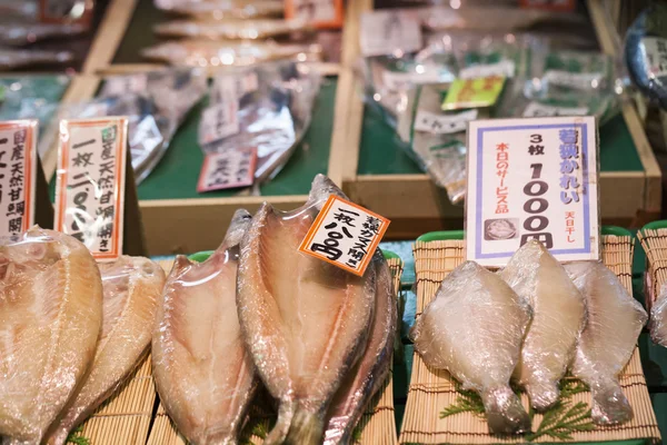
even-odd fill
[(328, 405), (359, 358), (375, 306), (375, 268), (364, 277), (298, 251), (329, 195), (318, 175), (306, 205), (265, 202), (241, 245), (237, 308), (259, 375), (279, 402), (270, 444), (320, 444)]

